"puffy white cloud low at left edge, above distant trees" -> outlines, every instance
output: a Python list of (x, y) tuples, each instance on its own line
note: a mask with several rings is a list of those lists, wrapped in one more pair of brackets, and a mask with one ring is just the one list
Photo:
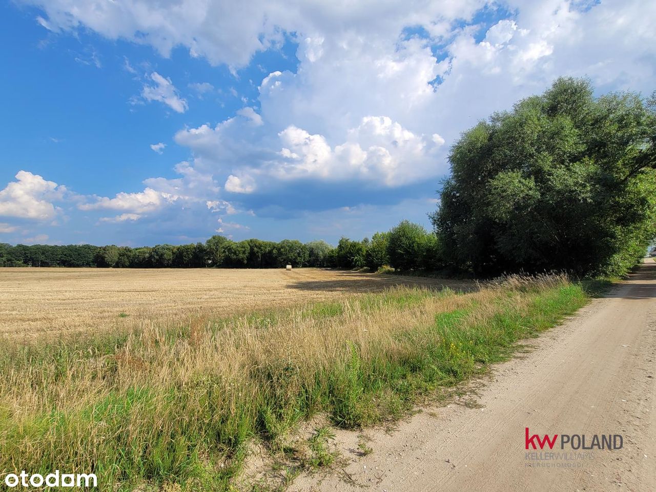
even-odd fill
[(54, 201), (64, 199), (65, 186), (46, 181), (39, 174), (18, 171), (12, 181), (0, 191), (0, 216), (52, 220), (60, 211)]

